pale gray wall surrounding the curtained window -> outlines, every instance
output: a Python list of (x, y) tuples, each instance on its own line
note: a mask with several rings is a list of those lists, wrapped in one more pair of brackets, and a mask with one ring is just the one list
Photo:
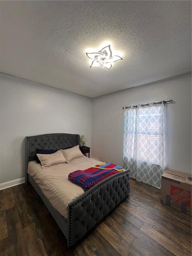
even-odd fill
[(92, 156), (122, 164), (123, 106), (173, 99), (166, 105), (166, 165), (191, 172), (191, 73), (93, 99)]

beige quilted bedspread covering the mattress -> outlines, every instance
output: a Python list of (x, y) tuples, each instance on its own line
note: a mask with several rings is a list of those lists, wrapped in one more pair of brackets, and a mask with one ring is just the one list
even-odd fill
[(68, 179), (70, 172), (85, 170), (101, 163), (82, 156), (69, 163), (42, 169), (36, 161), (30, 161), (27, 173), (35, 180), (52, 206), (67, 219), (68, 203), (84, 193), (84, 190)]

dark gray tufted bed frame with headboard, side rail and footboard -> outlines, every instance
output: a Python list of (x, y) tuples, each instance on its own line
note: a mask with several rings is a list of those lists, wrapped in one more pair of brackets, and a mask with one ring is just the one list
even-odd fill
[(64, 149), (80, 145), (79, 134), (54, 133), (26, 137), (25, 183), (29, 182), (39, 194), (70, 247), (81, 239), (96, 223), (128, 196), (129, 170), (114, 174), (68, 204), (68, 218), (64, 218), (45, 197), (34, 179), (27, 173), (29, 161), (36, 159), (36, 149)]

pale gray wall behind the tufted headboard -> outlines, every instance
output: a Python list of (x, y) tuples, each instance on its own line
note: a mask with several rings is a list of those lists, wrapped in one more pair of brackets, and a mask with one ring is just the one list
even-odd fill
[(0, 183), (24, 177), (25, 136), (85, 135), (91, 147), (92, 100), (0, 74)]

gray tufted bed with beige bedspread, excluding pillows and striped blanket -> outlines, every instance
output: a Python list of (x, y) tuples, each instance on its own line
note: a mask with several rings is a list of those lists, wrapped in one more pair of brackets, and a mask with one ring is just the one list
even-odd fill
[(37, 148), (59, 150), (76, 145), (80, 145), (78, 134), (55, 133), (26, 137), (25, 183), (31, 183), (39, 194), (65, 235), (69, 247), (128, 196), (130, 191), (129, 170), (104, 179), (86, 192), (70, 182), (67, 177), (71, 171), (100, 163), (86, 156), (45, 170), (40, 169), (40, 164), (35, 161)]

